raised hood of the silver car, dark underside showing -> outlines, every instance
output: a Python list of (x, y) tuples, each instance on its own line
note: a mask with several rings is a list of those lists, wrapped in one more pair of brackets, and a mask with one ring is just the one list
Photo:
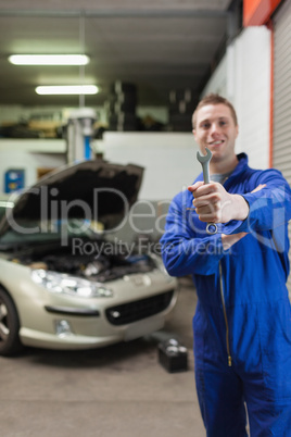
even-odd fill
[(18, 220), (86, 218), (112, 229), (137, 200), (142, 174), (138, 165), (102, 160), (62, 166), (16, 197), (0, 224), (0, 235)]

